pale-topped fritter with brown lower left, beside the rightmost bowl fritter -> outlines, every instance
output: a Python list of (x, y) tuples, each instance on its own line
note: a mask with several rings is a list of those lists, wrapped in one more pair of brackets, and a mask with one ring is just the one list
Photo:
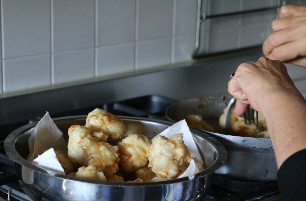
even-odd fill
[(148, 161), (151, 140), (144, 135), (130, 134), (117, 144), (119, 167), (123, 173), (134, 173)]

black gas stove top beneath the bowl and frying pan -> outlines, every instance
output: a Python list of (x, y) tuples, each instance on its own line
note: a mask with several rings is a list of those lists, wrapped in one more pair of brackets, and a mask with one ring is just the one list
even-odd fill
[[(52, 111), (49, 111), (49, 113), (52, 118), (56, 118), (62, 116), (86, 115), (95, 108), (101, 108), (117, 116), (136, 116), (167, 120), (165, 115), (166, 108), (175, 102), (177, 101), (167, 97), (147, 95), (113, 103), (67, 110), (60, 113), (52, 113)], [(1, 126), (3, 128), (2, 133), (6, 132), (7, 136), (14, 129), (24, 124), (31, 123), (32, 121), (33, 120), (3, 125)], [(31, 200), (28, 195), (23, 192), (17, 181), (14, 162), (11, 161), (4, 152), (4, 138), (0, 140), (0, 200)], [(38, 195), (36, 200), (44, 199)], [(208, 194), (203, 200), (281, 200), (281, 195), (276, 181), (239, 181), (214, 175)]]

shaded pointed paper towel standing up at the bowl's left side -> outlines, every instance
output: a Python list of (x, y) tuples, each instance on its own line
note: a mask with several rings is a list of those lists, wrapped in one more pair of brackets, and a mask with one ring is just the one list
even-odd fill
[(39, 154), (43, 154), (45, 150), (51, 147), (66, 154), (67, 145), (68, 142), (63, 138), (62, 131), (58, 129), (51, 119), (49, 112), (47, 112), (38, 122), (29, 138), (30, 154), (27, 160), (32, 162)]

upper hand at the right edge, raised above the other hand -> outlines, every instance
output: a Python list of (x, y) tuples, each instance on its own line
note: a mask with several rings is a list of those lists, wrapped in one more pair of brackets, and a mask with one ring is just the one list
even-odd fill
[(306, 5), (282, 6), (263, 53), (273, 60), (306, 67)]

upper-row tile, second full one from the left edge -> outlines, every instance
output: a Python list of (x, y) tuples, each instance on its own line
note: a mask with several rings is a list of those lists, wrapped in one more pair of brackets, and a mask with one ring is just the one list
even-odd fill
[(52, 7), (54, 52), (94, 47), (94, 0), (53, 0)]

